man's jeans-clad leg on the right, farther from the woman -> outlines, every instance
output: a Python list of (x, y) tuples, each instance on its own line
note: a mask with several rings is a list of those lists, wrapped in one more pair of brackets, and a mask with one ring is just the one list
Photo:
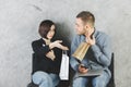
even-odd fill
[(110, 76), (107, 74), (107, 72), (104, 72), (100, 76), (93, 78), (93, 87), (106, 87), (109, 79)]

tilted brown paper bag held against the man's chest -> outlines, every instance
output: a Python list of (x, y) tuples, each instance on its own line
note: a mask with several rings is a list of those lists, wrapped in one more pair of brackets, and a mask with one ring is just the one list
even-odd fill
[(82, 61), (87, 52), (90, 45), (87, 42), (81, 42), (78, 49), (74, 51), (72, 57), (76, 58), (78, 60)]

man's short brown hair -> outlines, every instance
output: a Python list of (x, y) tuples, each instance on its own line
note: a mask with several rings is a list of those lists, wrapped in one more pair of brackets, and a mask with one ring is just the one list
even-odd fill
[(95, 24), (95, 16), (94, 16), (94, 14), (92, 14), (88, 11), (82, 11), (82, 12), (80, 12), (76, 15), (76, 17), (78, 18), (80, 17), (84, 22), (84, 24), (90, 23), (90, 24), (92, 24), (92, 26), (94, 26), (94, 24)]

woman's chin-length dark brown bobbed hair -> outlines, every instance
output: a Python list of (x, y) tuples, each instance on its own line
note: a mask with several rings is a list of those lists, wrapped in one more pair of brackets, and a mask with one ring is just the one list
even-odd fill
[(40, 23), (38, 33), (43, 38), (47, 38), (47, 34), (50, 30), (51, 25), (55, 25), (55, 23), (50, 20), (45, 20)]

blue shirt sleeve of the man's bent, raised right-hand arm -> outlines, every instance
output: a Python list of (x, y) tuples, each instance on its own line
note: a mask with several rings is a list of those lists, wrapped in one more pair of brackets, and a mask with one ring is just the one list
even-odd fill
[(97, 45), (97, 42), (91, 46), (94, 52), (95, 60), (104, 66), (109, 66), (111, 61), (110, 38), (105, 35), (100, 37), (99, 42), (99, 46)]

